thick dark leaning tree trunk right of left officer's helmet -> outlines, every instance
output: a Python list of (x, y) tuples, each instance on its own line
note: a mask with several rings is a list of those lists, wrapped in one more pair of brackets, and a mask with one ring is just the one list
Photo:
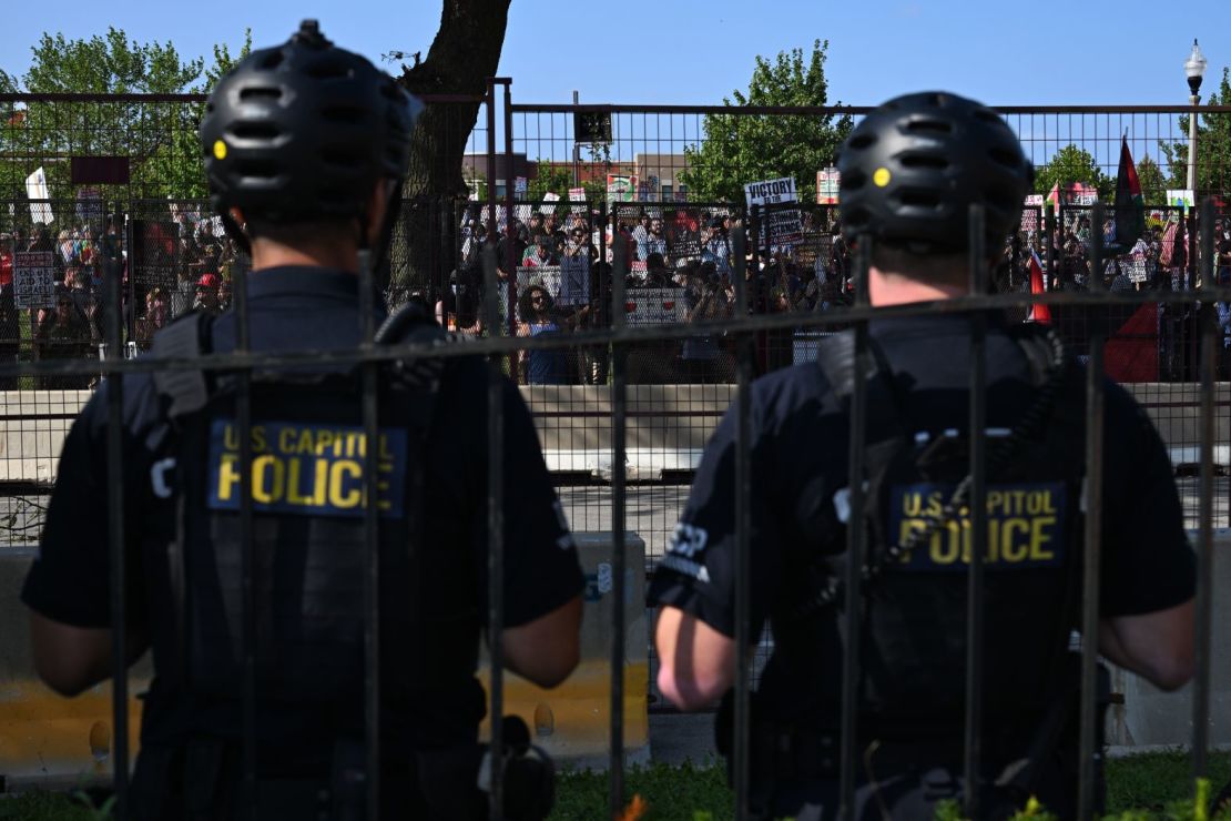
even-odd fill
[[(444, 0), (441, 28), (427, 59), (403, 66), (399, 82), (421, 96), (481, 97), (496, 74), (510, 0)], [(391, 250), (395, 289), (422, 290), (435, 300), (457, 265), (458, 217), (467, 198), (462, 158), (480, 103), (435, 102), (423, 112), (411, 144), (403, 188), (404, 219)], [(489, 135), (490, 139), (491, 135)], [(396, 295), (394, 295), (396, 299)]]

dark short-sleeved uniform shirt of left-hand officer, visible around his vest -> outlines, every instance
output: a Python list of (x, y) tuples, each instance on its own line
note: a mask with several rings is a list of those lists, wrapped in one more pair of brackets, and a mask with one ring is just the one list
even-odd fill
[[(320, 268), (272, 268), (249, 282), (251, 346), (255, 351), (352, 350), (361, 340), (358, 278)], [(380, 321), (380, 316), (377, 321)], [(234, 347), (235, 316), (214, 325), (214, 350)], [(427, 437), (423, 505), (426, 538), (470, 551), (480, 570), (474, 606), (486, 613), (486, 366), (469, 357), (447, 372)], [(48, 507), (38, 560), (26, 580), (22, 599), (57, 622), (82, 628), (111, 625), (107, 550), (107, 388), (91, 398), (74, 422), (60, 455), (55, 490)], [(135, 545), (154, 515), (143, 510), (143, 489), (151, 483), (151, 454), (145, 436), (160, 422), (153, 380), (146, 374), (123, 382), (126, 538), (129, 550), (129, 619), (138, 628), (169, 619), (149, 613), (164, 601), (145, 590)], [(505, 389), (505, 623), (516, 627), (545, 615), (581, 592), (583, 581), (576, 549), (566, 531), (538, 438), (517, 388)], [(478, 635), (455, 636), (476, 643)], [(156, 671), (155, 671), (156, 672)], [(357, 671), (358, 673), (358, 671)], [(181, 699), (155, 677), (145, 702), (143, 742), (176, 740), (201, 721), (235, 721), (185, 715)], [(407, 716), (412, 732), (425, 742), (473, 740), (483, 715), (476, 681), (419, 705), (423, 714)], [(277, 736), (270, 705), (262, 705), (262, 734)], [(459, 715), (460, 714), (460, 715)], [(222, 711), (219, 713), (222, 715)], [(302, 718), (302, 716), (300, 716)], [(390, 716), (391, 718), (391, 716)], [(294, 719), (288, 716), (287, 726)], [(442, 737), (447, 736), (447, 737)], [(262, 751), (263, 752), (263, 751)], [(271, 751), (273, 752), (273, 751)]]

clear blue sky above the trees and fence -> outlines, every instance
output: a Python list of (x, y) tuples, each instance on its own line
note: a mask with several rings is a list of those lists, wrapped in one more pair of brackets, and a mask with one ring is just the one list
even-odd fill
[[(43, 31), (89, 37), (110, 22), (197, 57), (213, 43), (238, 47), (245, 27), (265, 46), (318, 17), (331, 39), (379, 60), (393, 49), (426, 54), (441, 14), (437, 0), (6, 6), (0, 68), (15, 75)], [(1227, 0), (513, 0), (500, 73), (513, 78), (517, 102), (569, 102), (577, 90), (586, 102), (712, 105), (747, 86), (755, 55), (820, 38), (830, 41), (831, 102), (947, 89), (991, 105), (1182, 105), (1194, 36), (1210, 63), (1206, 89), (1231, 65), (1229, 12)]]

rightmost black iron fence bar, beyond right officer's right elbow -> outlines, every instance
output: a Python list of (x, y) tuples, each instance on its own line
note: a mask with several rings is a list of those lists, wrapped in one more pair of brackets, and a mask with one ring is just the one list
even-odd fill
[[(1214, 258), (1214, 202), (1201, 203), (1201, 258)], [(1193, 779), (1205, 778), (1210, 743), (1210, 678), (1214, 618), (1214, 372), (1217, 367), (1217, 330), (1214, 304), (1201, 302), (1200, 380), (1201, 410), (1198, 428), (1197, 635), (1193, 681)]]

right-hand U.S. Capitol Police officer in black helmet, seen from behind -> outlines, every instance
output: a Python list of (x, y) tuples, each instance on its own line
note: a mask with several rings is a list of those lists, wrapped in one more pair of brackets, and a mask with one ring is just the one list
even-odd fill
[[(874, 305), (959, 297), (968, 212), (986, 213), (987, 270), (1018, 224), (1032, 169), (991, 110), (915, 94), (873, 111), (842, 153), (846, 236), (870, 236)], [(963, 773), (970, 321), (870, 324), (867, 532), (854, 817), (932, 817)], [(758, 817), (836, 817), (848, 485), (846, 337), (819, 362), (751, 390), (751, 633), (774, 646), (752, 698), (751, 800)], [(1062, 347), (988, 316), (988, 553), (980, 807), (1030, 794), (1071, 815), (1082, 567), (1083, 377)], [(870, 366), (869, 366), (870, 368)], [(1194, 559), (1167, 452), (1131, 396), (1105, 386), (1099, 652), (1158, 687), (1192, 675)], [(1050, 396), (1050, 399), (1049, 399)], [(1003, 447), (1002, 447), (1003, 446)], [(709, 443), (650, 590), (659, 686), (683, 709), (735, 677), (736, 421)], [(954, 502), (949, 511), (949, 503)], [(965, 524), (969, 528), (969, 522)], [(719, 729), (720, 748), (729, 726)], [(729, 743), (729, 742), (728, 742)], [(1014, 768), (1013, 766), (1017, 764)], [(985, 794), (986, 793), (986, 794)]]

